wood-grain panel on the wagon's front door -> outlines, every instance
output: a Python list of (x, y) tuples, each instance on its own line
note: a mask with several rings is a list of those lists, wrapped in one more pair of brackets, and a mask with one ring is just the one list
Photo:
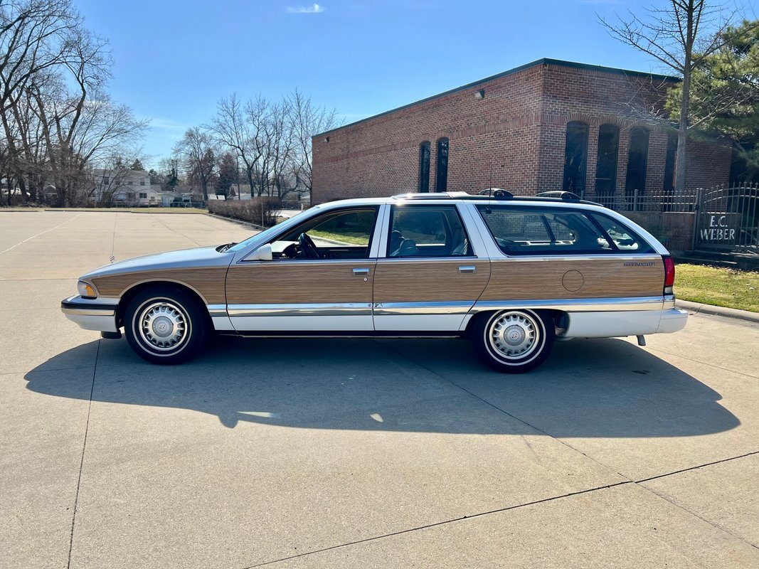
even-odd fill
[[(227, 275), (227, 302), (370, 303), (374, 266), (373, 260), (234, 265), (229, 267)], [(353, 269), (370, 270), (368, 275), (354, 275)]]

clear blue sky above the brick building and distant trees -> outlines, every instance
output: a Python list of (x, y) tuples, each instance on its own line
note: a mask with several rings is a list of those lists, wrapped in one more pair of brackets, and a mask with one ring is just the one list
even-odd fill
[(112, 46), (112, 96), (151, 119), (151, 165), (231, 93), (277, 98), (298, 87), (351, 122), (543, 57), (666, 73), (596, 15), (657, 0), (76, 3)]

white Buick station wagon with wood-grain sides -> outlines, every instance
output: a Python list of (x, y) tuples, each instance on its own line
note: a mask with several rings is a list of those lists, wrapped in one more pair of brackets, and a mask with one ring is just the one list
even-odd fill
[(83, 275), (61, 310), (179, 363), (211, 332), (470, 338), (502, 372), (554, 341), (676, 332), (672, 257), (644, 228), (568, 192), (404, 194), (315, 206), (237, 244)]

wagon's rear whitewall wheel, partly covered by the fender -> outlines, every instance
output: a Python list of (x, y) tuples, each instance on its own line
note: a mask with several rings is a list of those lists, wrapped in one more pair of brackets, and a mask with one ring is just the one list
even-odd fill
[(474, 349), (499, 372), (524, 373), (550, 354), (555, 337), (553, 321), (533, 310), (504, 310), (474, 322)]

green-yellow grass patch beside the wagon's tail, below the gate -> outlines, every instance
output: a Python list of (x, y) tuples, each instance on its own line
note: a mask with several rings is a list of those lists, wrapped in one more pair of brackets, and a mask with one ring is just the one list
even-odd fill
[(678, 264), (675, 294), (682, 300), (759, 313), (759, 272)]

